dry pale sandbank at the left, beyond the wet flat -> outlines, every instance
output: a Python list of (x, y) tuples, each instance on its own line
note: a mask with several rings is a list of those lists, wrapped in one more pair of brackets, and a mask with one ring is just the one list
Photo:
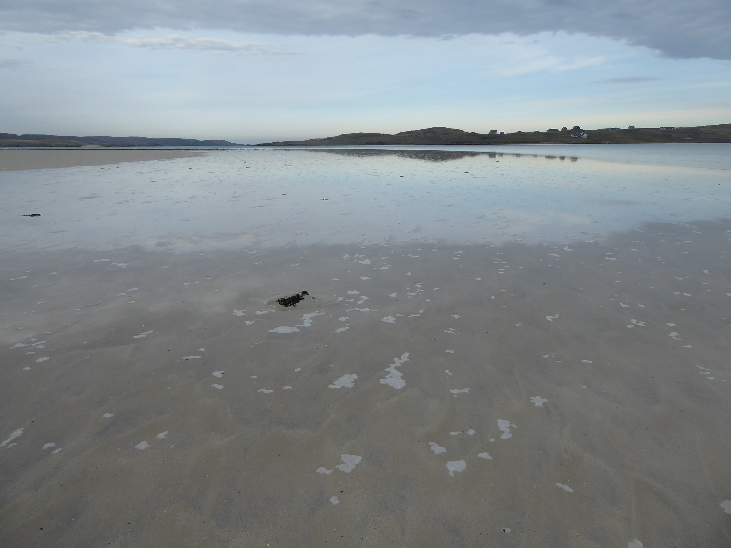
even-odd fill
[(46, 170), (58, 167), (101, 166), (118, 164), (126, 161), (167, 160), (200, 156), (200, 152), (192, 151), (130, 151), (127, 149), (110, 150), (109, 148), (72, 150), (58, 148), (1, 148), (0, 171), (12, 170)]

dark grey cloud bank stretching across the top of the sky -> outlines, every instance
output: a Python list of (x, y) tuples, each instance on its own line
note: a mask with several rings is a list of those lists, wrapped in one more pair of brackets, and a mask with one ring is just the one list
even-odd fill
[(728, 0), (23, 0), (0, 7), (0, 28), (8, 31), (155, 27), (435, 37), (567, 31), (624, 39), (675, 58), (731, 59)]

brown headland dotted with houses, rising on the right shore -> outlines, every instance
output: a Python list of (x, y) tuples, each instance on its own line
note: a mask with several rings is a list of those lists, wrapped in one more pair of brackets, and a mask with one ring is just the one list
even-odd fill
[(461, 129), (431, 127), (397, 134), (345, 133), (336, 137), (306, 141), (261, 142), (257, 146), (296, 145), (553, 145), (569, 143), (731, 142), (731, 123), (716, 126), (572, 129), (488, 134)]

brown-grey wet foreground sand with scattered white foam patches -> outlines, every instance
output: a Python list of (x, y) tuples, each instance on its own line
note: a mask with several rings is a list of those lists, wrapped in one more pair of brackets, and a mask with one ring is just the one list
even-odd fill
[[(67, 229), (20, 222), (36, 220)], [(53, 248), (7, 232), (0, 544), (728, 544), (731, 220), (471, 230)]]

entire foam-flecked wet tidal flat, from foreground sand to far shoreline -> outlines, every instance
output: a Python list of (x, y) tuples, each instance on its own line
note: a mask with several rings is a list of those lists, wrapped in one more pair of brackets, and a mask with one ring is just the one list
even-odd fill
[(731, 145), (588, 146), (0, 172), (0, 544), (729, 544)]

